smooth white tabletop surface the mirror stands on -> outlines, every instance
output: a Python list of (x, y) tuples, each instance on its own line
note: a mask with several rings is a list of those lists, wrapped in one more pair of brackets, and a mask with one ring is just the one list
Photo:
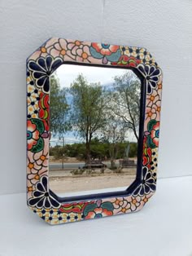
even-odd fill
[(50, 226), (25, 194), (0, 196), (0, 256), (192, 256), (192, 176), (159, 179), (137, 213)]

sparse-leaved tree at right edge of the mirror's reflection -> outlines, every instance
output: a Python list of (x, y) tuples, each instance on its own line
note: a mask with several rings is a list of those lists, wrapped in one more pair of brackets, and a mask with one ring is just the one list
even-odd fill
[(128, 71), (115, 77), (114, 86), (115, 90), (112, 92), (110, 108), (129, 130), (133, 130), (138, 140), (140, 81)]

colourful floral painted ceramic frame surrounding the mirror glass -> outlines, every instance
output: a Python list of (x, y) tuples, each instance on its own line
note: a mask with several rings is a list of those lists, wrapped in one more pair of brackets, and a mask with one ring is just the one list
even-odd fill
[[(136, 68), (146, 81), (142, 180), (129, 196), (60, 203), (50, 196), (49, 76), (66, 61)], [(162, 72), (145, 48), (51, 38), (27, 60), (28, 207), (47, 223), (76, 222), (141, 210), (156, 189)]]

